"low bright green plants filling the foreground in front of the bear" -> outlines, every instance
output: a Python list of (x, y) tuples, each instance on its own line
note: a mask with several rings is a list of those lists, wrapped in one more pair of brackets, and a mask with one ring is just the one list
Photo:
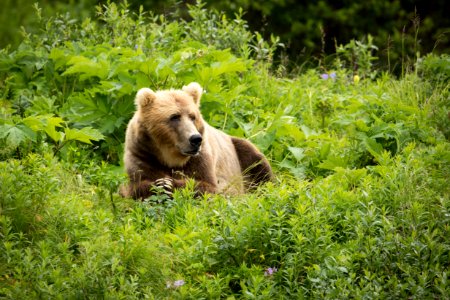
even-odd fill
[[(236, 198), (194, 199), (187, 189), (155, 207), (114, 195), (115, 209), (101, 188), (51, 156), (2, 162), (0, 291), (445, 298), (448, 148), (411, 144), (385, 159), (313, 181), (280, 174)], [(265, 276), (269, 267), (278, 272)], [(182, 287), (166, 288), (180, 279)]]

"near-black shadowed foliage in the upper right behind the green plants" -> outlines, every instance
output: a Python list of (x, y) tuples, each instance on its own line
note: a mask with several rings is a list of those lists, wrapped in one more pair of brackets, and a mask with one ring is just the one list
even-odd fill
[(433, 7), (424, 0), (205, 2), (229, 14), (243, 8), (250, 28), (266, 39), (279, 36), (288, 45), (286, 54), (301, 63), (333, 55), (338, 45), (371, 35), (380, 49), (378, 68), (404, 74), (421, 53), (446, 53), (449, 48), (445, 0), (434, 1)]

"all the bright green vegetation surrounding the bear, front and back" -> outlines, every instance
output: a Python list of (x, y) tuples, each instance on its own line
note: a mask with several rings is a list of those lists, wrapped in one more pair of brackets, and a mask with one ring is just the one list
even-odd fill
[[(1, 297), (448, 298), (448, 55), (396, 79), (352, 40), (286, 74), (239, 16), (96, 12), (39, 18), (0, 51)], [(205, 119), (257, 144), (276, 182), (120, 198), (136, 91), (194, 80)]]

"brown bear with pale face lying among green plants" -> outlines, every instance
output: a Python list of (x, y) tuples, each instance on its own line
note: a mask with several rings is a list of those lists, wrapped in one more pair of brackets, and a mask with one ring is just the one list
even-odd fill
[(162, 186), (171, 194), (188, 178), (197, 194), (242, 193), (273, 178), (256, 147), (208, 125), (200, 113), (202, 88), (192, 82), (181, 90), (138, 91), (137, 110), (128, 123), (124, 163), (130, 183), (121, 194), (135, 199)]

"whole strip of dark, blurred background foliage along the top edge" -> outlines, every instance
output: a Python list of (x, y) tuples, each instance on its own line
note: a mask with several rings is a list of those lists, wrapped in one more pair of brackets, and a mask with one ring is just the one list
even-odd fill
[[(20, 26), (32, 31), (36, 23), (29, 0), (5, 0), (0, 13), (0, 46), (19, 43)], [(43, 15), (55, 11), (70, 12), (78, 19), (88, 17), (92, 7), (105, 1), (40, 0)], [(374, 37), (379, 67), (399, 73), (402, 61), (414, 61), (418, 53), (445, 53), (450, 49), (450, 19), (446, 0), (369, 0), (369, 1), (295, 1), (295, 0), (219, 0), (204, 1), (206, 8), (225, 11), (230, 17), (244, 10), (249, 29), (259, 31), (266, 40), (271, 35), (285, 45), (276, 60), (290, 66), (317, 65), (336, 52), (336, 46), (351, 39), (365, 41)], [(168, 17), (188, 17), (186, 5), (194, 1), (129, 0), (132, 10), (139, 6)], [(3, 26), (5, 25), (5, 26)], [(283, 59), (284, 58), (284, 59)]]

